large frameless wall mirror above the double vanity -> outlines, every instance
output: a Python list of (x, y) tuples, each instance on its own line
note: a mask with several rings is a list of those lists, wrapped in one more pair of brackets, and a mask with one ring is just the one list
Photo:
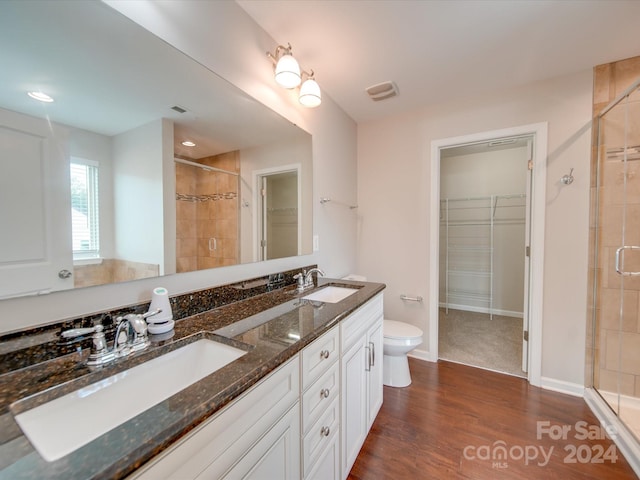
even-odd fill
[(0, 299), (311, 253), (308, 133), (101, 2), (0, 44)]

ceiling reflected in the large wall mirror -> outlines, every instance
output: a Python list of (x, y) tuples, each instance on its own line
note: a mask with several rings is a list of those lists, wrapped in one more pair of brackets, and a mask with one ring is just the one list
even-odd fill
[(191, 159), (306, 135), (102, 2), (0, 0), (0, 45), (2, 109), (106, 136), (170, 119)]

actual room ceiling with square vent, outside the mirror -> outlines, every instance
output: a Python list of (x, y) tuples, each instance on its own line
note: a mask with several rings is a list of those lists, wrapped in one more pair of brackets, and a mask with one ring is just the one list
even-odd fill
[(236, 1), (357, 122), (640, 55), (638, 0)]

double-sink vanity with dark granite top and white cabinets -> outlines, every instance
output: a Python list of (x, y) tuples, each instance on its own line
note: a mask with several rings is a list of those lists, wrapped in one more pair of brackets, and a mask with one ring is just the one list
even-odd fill
[[(322, 301), (336, 288), (353, 292)], [(172, 338), (105, 367), (72, 353), (0, 375), (0, 479), (345, 478), (382, 404), (384, 288), (288, 286), (183, 318)], [(241, 355), (60, 458), (45, 460), (15, 421), (198, 340)]]

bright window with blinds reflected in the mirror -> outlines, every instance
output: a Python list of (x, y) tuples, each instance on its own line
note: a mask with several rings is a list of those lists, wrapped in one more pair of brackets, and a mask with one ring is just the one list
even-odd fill
[(73, 259), (99, 258), (98, 163), (74, 158), (70, 173)]

